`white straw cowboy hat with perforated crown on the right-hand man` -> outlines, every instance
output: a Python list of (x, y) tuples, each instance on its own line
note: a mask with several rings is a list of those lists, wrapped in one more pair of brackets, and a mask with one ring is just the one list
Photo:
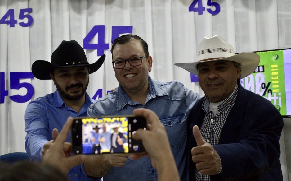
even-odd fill
[[(214, 58), (214, 59), (213, 59)], [(175, 63), (174, 65), (198, 75), (197, 64), (210, 61), (234, 61), (241, 64), (240, 78), (247, 77), (253, 73), (260, 63), (257, 53), (245, 52), (235, 54), (233, 46), (219, 35), (211, 38), (204, 37), (198, 47), (197, 62)]]

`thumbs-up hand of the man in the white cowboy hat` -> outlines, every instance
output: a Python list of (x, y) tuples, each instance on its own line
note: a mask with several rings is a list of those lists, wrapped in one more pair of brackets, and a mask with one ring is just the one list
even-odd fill
[(205, 142), (197, 125), (193, 126), (197, 146), (191, 150), (192, 161), (203, 175), (215, 175), (220, 170), (220, 157), (213, 146)]

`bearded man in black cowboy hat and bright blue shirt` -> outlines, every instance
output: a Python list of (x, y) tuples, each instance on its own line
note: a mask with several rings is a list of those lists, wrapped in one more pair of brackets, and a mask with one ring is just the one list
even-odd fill
[[(56, 91), (31, 101), (25, 110), (25, 150), (31, 160), (42, 160), (42, 154), (53, 144), (57, 130), (61, 130), (69, 116), (87, 116), (87, 107), (96, 101), (86, 93), (89, 74), (97, 71), (104, 59), (102, 55), (89, 64), (83, 48), (71, 40), (61, 42), (52, 53), (51, 62), (37, 60), (32, 64), (34, 77), (52, 79)], [(88, 180), (80, 165), (72, 168), (68, 176), (71, 180)]]

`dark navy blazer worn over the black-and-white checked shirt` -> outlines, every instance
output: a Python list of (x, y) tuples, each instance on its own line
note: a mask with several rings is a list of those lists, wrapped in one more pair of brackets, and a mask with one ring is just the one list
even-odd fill
[[(201, 128), (203, 100), (195, 104), (189, 117), (189, 180), (195, 180), (196, 169), (191, 155), (191, 149), (197, 146), (192, 128), (194, 125)], [(279, 161), (282, 129), (283, 118), (275, 106), (239, 85), (237, 99), (222, 128), (219, 144), (213, 146), (220, 155), (222, 173), (211, 176), (211, 179), (283, 180)]]

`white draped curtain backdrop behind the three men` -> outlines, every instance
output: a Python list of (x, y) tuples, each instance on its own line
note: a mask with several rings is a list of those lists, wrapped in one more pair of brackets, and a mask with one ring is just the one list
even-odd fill
[[(27, 89), (11, 88), (10, 72), (31, 72), (34, 61), (51, 61), (51, 53), (62, 40), (75, 39), (83, 47), (83, 39), (96, 25), (105, 26), (102, 36), (109, 49), (104, 51), (103, 66), (90, 74), (87, 92), (91, 97), (98, 89), (104, 96), (118, 86), (110, 52), (113, 26), (132, 26), (132, 34), (146, 40), (153, 57), (153, 79), (181, 81), (201, 95), (198, 82), (191, 82), (190, 73), (174, 63), (194, 61), (204, 36), (221, 35), (236, 53), (291, 47), (290, 0), (213, 0), (220, 5), (217, 15), (206, 10), (216, 11), (207, 6), (207, 0), (200, 1), (205, 11), (199, 15), (189, 11), (193, 0), (1, 0), (1, 18), (13, 9), (17, 20), (14, 27), (1, 24), (1, 90), (8, 91), (8, 95), (1, 95), (1, 155), (25, 151), (26, 106), (56, 89), (51, 80), (20, 79), (20, 83), (33, 86), (34, 95), (27, 102), (15, 102), (10, 96), (26, 95)], [(33, 23), (23, 27), (20, 22), (29, 23), (29, 19), (19, 16), (26, 8), (32, 8), (24, 14), (29, 14)], [(90, 43), (98, 43), (99, 34)], [(96, 49), (85, 52), (89, 63), (100, 57)]]

